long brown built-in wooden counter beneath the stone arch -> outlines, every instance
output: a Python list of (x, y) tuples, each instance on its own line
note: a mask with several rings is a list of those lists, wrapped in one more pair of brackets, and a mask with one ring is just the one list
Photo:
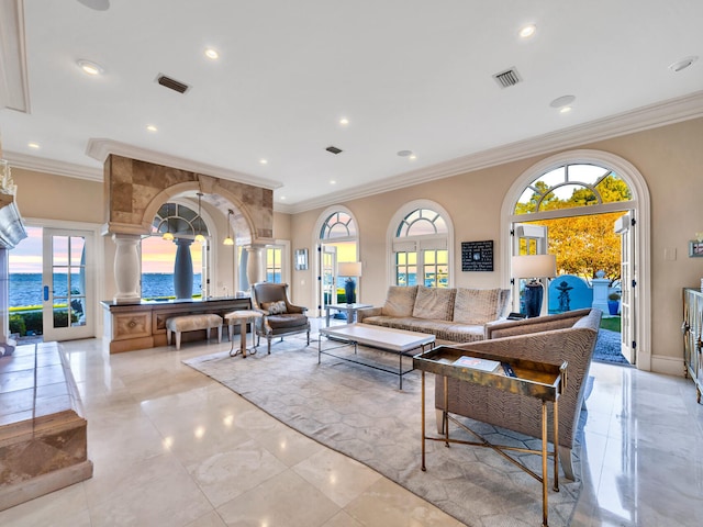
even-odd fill
[[(214, 313), (224, 315), (237, 310), (250, 310), (247, 298), (223, 298), (209, 300), (172, 300), (168, 302), (140, 302), (115, 304), (101, 302), (104, 313), (104, 338), (110, 341), (110, 352), (166, 346), (166, 319), (172, 316)], [(234, 328), (238, 332), (239, 328)], [(204, 339), (205, 332), (189, 332), (183, 341)]]

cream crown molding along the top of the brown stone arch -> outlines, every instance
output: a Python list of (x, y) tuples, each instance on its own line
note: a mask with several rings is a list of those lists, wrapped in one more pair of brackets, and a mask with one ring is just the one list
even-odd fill
[(160, 152), (149, 150), (147, 148), (141, 148), (138, 146), (127, 145), (126, 143), (120, 143), (119, 141), (105, 138), (89, 139), (88, 146), (86, 147), (86, 154), (93, 159), (99, 160), (100, 162), (104, 162), (110, 154), (115, 154), (118, 156), (129, 157), (131, 159), (140, 159), (142, 161), (153, 162), (155, 165), (163, 165), (181, 170), (189, 170), (191, 172), (204, 173), (230, 181), (252, 184), (255, 187), (263, 187), (270, 190), (278, 189), (283, 184), (280, 181), (274, 181), (272, 179), (256, 178), (246, 173), (216, 167), (214, 165), (198, 162), (191, 159), (185, 159), (182, 157), (171, 156), (168, 154), (163, 154)]

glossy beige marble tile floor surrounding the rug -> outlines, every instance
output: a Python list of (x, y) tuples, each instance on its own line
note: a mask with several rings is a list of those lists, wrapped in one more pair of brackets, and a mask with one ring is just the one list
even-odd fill
[[(65, 343), (94, 475), (0, 512), (0, 525), (461, 525), (181, 363), (228, 346), (110, 356), (100, 339)], [(602, 363), (591, 374), (572, 525), (703, 525), (703, 405), (693, 383)]]

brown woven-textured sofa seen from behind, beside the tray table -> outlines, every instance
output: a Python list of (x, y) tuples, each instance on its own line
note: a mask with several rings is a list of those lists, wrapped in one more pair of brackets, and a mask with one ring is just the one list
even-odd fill
[[(557, 366), (568, 362), (566, 390), (559, 397), (559, 457), (566, 476), (571, 480), (574, 479), (571, 451), (601, 315), (600, 310), (585, 309), (492, 324), (486, 328), (484, 340), (453, 346), (467, 352), (515, 357)], [(539, 400), (457, 379), (448, 379), (447, 385), (449, 413), (542, 437)], [(439, 434), (444, 434), (444, 377), (437, 377), (435, 408)], [(549, 440), (554, 442), (553, 436), (553, 427), (549, 426)]]

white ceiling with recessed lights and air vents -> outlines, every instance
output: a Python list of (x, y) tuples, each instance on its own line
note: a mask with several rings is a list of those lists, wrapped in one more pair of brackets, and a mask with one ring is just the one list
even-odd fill
[[(490, 162), (487, 152), (505, 159), (535, 138), (703, 114), (703, 59), (669, 68), (703, 57), (701, 0), (22, 3), (30, 111), (0, 110), (5, 158), (100, 178), (87, 150), (108, 139), (91, 154), (204, 165), (274, 188), (290, 212)], [(537, 33), (521, 41), (526, 23)], [(104, 74), (85, 75), (81, 58)], [(511, 67), (523, 81), (502, 89), (492, 76)], [(168, 90), (159, 72), (192, 88)], [(570, 113), (550, 108), (567, 94)]]

